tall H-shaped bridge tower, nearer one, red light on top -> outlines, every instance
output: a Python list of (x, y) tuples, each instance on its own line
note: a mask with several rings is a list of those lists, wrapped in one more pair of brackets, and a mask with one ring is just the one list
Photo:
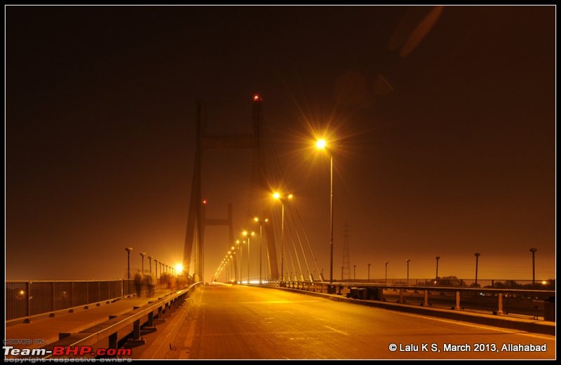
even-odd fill
[[(206, 149), (253, 149), (252, 174), (251, 174), (251, 201), (262, 192), (269, 191), (268, 177), (266, 173), (266, 153), (262, 138), (262, 98), (254, 95), (252, 103), (253, 133), (252, 135), (208, 135), (205, 132), (206, 118), (203, 102), (196, 102), (196, 142), (195, 142), (195, 164), (193, 170), (193, 181), (191, 183), (191, 198), (189, 200), (189, 214), (187, 216), (187, 232), (185, 234), (185, 246), (183, 252), (183, 267), (187, 273), (191, 272), (191, 259), (194, 263), (192, 268), (195, 280), (203, 281), (204, 273), (204, 235), (205, 226), (229, 225), (230, 242), (234, 242), (234, 231), (231, 226), (231, 205), (229, 206), (229, 219), (207, 220), (205, 219), (205, 202), (202, 194), (201, 171), (203, 167), (203, 153)], [(271, 213), (260, 211), (255, 213), (262, 216), (271, 216)], [(278, 279), (278, 265), (276, 259), (275, 239), (272, 225), (264, 226), (264, 234), (267, 242), (267, 253), (271, 277)]]

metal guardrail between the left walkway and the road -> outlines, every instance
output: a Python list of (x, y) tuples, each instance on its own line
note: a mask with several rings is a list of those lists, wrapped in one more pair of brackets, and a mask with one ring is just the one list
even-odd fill
[[(176, 310), (184, 301), (186, 301), (189, 294), (191, 294), (198, 285), (202, 282), (196, 282), (189, 285), (186, 289), (176, 291), (173, 294), (168, 294), (163, 298), (158, 298), (158, 301), (144, 305), (142, 308), (135, 308), (131, 312), (121, 315), (119, 317), (110, 318), (102, 324), (90, 327), (79, 333), (74, 333), (70, 336), (62, 338), (55, 343), (50, 343), (47, 346), (41, 347), (41, 350), (52, 351), (55, 346), (75, 347), (75, 346), (93, 346), (100, 341), (109, 339), (109, 347), (107, 349), (118, 349), (119, 341), (123, 338), (128, 338), (130, 333), (127, 333), (123, 338), (119, 338), (119, 331), (126, 329), (132, 325), (132, 340), (140, 340), (140, 329), (142, 326), (149, 329), (154, 327), (156, 319), (162, 319), (163, 315)], [(156, 314), (154, 314), (156, 312)], [(142, 319), (146, 322), (141, 324)], [(47, 354), (43, 359), (48, 359), (52, 354)]]

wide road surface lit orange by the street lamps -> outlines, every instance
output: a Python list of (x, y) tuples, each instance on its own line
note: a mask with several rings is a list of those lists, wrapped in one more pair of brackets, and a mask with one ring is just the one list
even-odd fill
[[(193, 299), (165, 359), (555, 359), (555, 336), (278, 289), (206, 285)], [(445, 343), (468, 346), (445, 351)], [(546, 352), (504, 352), (503, 344), (545, 344)]]

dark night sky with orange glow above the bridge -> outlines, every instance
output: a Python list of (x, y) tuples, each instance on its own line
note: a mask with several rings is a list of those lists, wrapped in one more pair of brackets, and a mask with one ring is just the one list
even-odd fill
[[(182, 261), (195, 103), (251, 132), (252, 95), (329, 271), (555, 277), (555, 6), (7, 6), (6, 278)], [(248, 225), (251, 151), (208, 151), (208, 216)], [(205, 279), (227, 228), (207, 228)], [(352, 270), (352, 269), (351, 269)], [(328, 277), (328, 275), (326, 275)]]

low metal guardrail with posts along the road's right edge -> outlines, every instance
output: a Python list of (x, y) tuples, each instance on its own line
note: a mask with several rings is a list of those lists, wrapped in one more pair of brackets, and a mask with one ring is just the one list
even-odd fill
[[(434, 306), (454, 310), (481, 310), (489, 314), (531, 315), (555, 321), (555, 291), (479, 287), (411, 286), (357, 282), (269, 282), (266, 285), (338, 294), (349, 298)], [(397, 292), (397, 294), (395, 294)], [(508, 305), (507, 305), (508, 304)]]

